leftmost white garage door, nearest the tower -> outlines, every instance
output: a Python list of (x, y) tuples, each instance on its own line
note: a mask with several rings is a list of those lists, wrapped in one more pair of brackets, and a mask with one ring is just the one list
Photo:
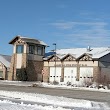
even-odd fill
[(50, 82), (60, 82), (61, 78), (61, 67), (50, 67)]

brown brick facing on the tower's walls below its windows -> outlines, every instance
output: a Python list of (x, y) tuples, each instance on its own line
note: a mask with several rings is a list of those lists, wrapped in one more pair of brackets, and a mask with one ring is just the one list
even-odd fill
[[(17, 54), (13, 54), (11, 58), (10, 72), (8, 75), (8, 80), (16, 79), (16, 62)], [(33, 61), (27, 60), (27, 54), (22, 54), (22, 67), (21, 70), (25, 70), (28, 77), (28, 81), (41, 81), (42, 80), (42, 69), (43, 61)]]

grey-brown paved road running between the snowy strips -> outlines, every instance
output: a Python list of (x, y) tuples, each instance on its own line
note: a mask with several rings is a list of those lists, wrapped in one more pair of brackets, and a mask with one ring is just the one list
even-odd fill
[(0, 90), (20, 91), (27, 93), (39, 93), (53, 96), (64, 96), (74, 99), (85, 99), (98, 102), (107, 102), (110, 105), (110, 93), (75, 90), (75, 89), (58, 89), (58, 88), (42, 88), (42, 87), (22, 87), (12, 85), (0, 85)]

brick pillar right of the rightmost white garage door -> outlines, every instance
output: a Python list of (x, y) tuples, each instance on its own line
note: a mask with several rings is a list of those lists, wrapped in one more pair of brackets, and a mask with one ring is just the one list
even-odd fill
[(101, 83), (101, 68), (93, 67), (93, 81), (97, 84)]

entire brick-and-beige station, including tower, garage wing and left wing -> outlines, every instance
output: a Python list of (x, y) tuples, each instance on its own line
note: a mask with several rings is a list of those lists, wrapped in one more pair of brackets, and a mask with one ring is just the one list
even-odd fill
[(16, 36), (12, 56), (0, 55), (0, 78), (63, 82), (72, 85), (110, 84), (110, 48), (56, 49), (45, 53), (41, 40)]

